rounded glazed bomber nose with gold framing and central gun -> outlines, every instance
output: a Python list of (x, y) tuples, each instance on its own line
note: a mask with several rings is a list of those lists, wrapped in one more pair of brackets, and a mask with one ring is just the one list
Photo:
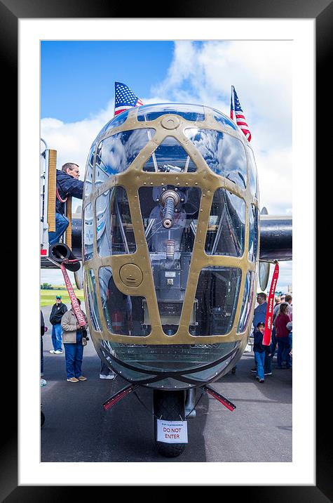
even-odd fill
[(128, 379), (176, 372), (168, 386), (224, 371), (254, 307), (258, 207), (248, 142), (216, 110), (146, 105), (110, 121), (90, 149), (83, 200), (102, 358)]

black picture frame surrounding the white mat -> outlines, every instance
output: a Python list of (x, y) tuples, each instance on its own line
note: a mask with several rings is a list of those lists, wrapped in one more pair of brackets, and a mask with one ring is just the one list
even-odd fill
[[(156, 17), (156, 4), (138, 4), (132, 8), (131, 18)], [(137, 13), (136, 13), (137, 11)], [(191, 14), (189, 16), (189, 13)], [(163, 18), (163, 16), (161, 16)], [(330, 103), (326, 103), (325, 91), (329, 91), (327, 72), (332, 61), (332, 28), (333, 4), (331, 0), (237, 0), (235, 2), (208, 0), (196, 4), (190, 2), (177, 3), (177, 6), (168, 6), (168, 18), (310, 18), (315, 19), (315, 54), (316, 54), (316, 162), (320, 166), (320, 156), (325, 152), (324, 141), (327, 138), (327, 117), (331, 118)], [(18, 131), (18, 20), (22, 18), (124, 18), (123, 6), (104, 0), (0, 0), (0, 51), (1, 66), (3, 70), (3, 84), (5, 91), (3, 111), (6, 117), (6, 127), (3, 132), (3, 145), (11, 145), (15, 149), (15, 131)], [(325, 104), (323, 103), (325, 101)], [(329, 101), (329, 100), (328, 100)], [(306, 104), (304, 104), (306, 106)], [(327, 148), (327, 145), (326, 145)], [(15, 156), (13, 157), (15, 159)], [(332, 161), (329, 160), (329, 164)], [(16, 175), (17, 176), (17, 175)], [(15, 191), (15, 172), (11, 172), (11, 193)], [(15, 192), (14, 192), (15, 193)], [(13, 202), (12, 202), (13, 204)], [(15, 216), (15, 215), (14, 215)], [(11, 214), (13, 218), (13, 214)], [(11, 256), (11, 261), (15, 256)], [(11, 278), (15, 285), (15, 277)], [(17, 285), (17, 282), (16, 282)], [(15, 294), (15, 292), (13, 292)], [(315, 306), (313, 306), (315, 308)], [(15, 320), (15, 318), (13, 318)], [(8, 332), (8, 329), (7, 329)], [(13, 327), (11, 327), (13, 332)], [(316, 332), (319, 333), (318, 325)], [(32, 337), (32, 334), (27, 334)], [(315, 334), (314, 334), (315, 337)], [(6, 335), (3, 343), (12, 357), (17, 354), (17, 339), (14, 334)], [(317, 340), (317, 355), (322, 355), (322, 346)], [(3, 353), (4, 354), (4, 353)], [(327, 357), (326, 357), (327, 358)], [(221, 497), (229, 495), (246, 498), (247, 502), (302, 502), (302, 503), (327, 503), (333, 501), (332, 477), (332, 440), (330, 436), (331, 415), (325, 410), (325, 396), (322, 389), (327, 390), (329, 379), (329, 365), (320, 364), (316, 369), (317, 415), (316, 415), (316, 474), (315, 486), (233, 486), (223, 487)], [(4, 426), (1, 435), (1, 471), (0, 471), (0, 497), (1, 501), (12, 502), (53, 502), (77, 497), (78, 488), (69, 486), (18, 486), (18, 409), (16, 376), (18, 369), (12, 360), (9, 361), (3, 378), (10, 376), (10, 381), (3, 381), (4, 387), (10, 386), (10, 393), (6, 397), (5, 413), (2, 414)], [(327, 397), (329, 400), (329, 397)], [(327, 401), (328, 401), (327, 400)], [(191, 481), (184, 481), (191, 485)], [(202, 485), (205, 485), (203, 479)], [(108, 488), (106, 488), (108, 490)], [(165, 488), (170, 494), (172, 487)], [(93, 488), (86, 488), (90, 492)], [(75, 492), (74, 492), (75, 491)]]

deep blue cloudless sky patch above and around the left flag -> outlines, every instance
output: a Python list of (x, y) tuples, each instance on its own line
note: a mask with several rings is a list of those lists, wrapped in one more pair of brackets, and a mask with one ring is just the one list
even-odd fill
[(172, 60), (172, 41), (42, 41), (41, 117), (71, 122), (99, 112), (114, 81), (149, 96)]

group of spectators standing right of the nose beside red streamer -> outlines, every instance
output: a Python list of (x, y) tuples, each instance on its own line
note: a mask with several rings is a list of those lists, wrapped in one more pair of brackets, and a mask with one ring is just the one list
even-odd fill
[(255, 372), (256, 379), (264, 383), (265, 376), (272, 375), (272, 360), (277, 353), (276, 368), (292, 368), (292, 295), (283, 294), (275, 297), (273, 308), (273, 327), (271, 332), (271, 344), (263, 344), (267, 296), (264, 292), (257, 294), (258, 306), (254, 309), (253, 316), (253, 352), (255, 366), (251, 372)]

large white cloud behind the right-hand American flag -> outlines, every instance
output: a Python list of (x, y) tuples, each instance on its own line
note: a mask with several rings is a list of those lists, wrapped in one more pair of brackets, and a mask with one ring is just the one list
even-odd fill
[(154, 88), (164, 100), (202, 103), (229, 115), (235, 86), (252, 131), (261, 207), (269, 214), (292, 208), (291, 58), (291, 41), (176, 41), (168, 75)]

